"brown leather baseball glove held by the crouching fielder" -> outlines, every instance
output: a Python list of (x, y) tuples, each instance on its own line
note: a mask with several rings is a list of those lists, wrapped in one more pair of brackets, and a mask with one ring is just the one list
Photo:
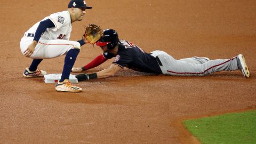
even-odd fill
[(102, 28), (100, 26), (90, 24), (86, 27), (84, 26), (84, 28), (85, 28), (85, 33), (83, 35), (84, 42), (94, 44), (102, 36)]

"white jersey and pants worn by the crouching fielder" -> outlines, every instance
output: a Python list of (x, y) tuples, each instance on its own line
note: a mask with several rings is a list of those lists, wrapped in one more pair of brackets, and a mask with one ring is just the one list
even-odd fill
[[(69, 41), (72, 25), (71, 17), (68, 11), (53, 13), (43, 20), (46, 19), (50, 19), (54, 23), (55, 27), (46, 29), (39, 39), (35, 47), (35, 51), (30, 58), (55, 58), (66, 54), (70, 49), (80, 49), (81, 46), (78, 42)], [(33, 42), (39, 22), (26, 31), (25, 35), (21, 38), (20, 50), (23, 55), (23, 52), (28, 48), (28, 45)]]

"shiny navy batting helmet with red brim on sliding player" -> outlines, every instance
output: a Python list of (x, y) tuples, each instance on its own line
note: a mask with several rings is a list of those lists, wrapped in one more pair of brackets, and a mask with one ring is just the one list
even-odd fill
[(103, 30), (103, 35), (96, 43), (98, 46), (108, 46), (108, 49), (114, 49), (119, 42), (118, 35), (114, 29), (105, 29)]

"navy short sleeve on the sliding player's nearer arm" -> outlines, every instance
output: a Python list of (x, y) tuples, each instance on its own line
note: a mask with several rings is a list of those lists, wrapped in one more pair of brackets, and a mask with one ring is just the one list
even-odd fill
[(132, 55), (117, 54), (113, 63), (124, 68), (132, 61), (133, 61)]

